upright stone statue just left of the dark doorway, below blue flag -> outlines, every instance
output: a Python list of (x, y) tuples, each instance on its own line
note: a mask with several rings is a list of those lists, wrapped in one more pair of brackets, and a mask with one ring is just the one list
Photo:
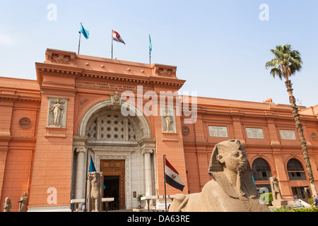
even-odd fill
[(102, 210), (102, 172), (88, 173), (88, 212)]

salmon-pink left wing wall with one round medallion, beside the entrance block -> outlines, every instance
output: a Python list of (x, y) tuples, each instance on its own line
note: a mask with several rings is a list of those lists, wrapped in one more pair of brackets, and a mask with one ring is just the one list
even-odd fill
[(19, 208), (20, 196), (30, 191), (39, 109), (36, 81), (1, 78), (0, 201), (11, 198), (13, 211)]

